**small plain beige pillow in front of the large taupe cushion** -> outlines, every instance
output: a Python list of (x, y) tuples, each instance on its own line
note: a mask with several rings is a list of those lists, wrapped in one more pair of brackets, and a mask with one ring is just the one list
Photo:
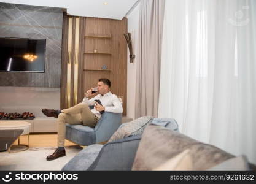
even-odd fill
[(179, 153), (174, 156), (174, 158), (169, 159), (166, 163), (161, 164), (157, 168), (153, 169), (155, 171), (184, 171), (184, 170), (192, 170), (192, 160), (189, 155), (189, 149)]

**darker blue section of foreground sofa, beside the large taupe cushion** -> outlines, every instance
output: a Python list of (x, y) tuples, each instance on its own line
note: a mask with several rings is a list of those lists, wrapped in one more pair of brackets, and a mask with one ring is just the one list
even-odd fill
[(105, 144), (88, 170), (131, 170), (140, 140), (133, 136)]

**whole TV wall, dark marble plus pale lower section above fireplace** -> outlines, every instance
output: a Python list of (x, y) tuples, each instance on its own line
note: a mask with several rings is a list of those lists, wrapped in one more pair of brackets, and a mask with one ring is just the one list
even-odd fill
[(63, 10), (0, 3), (0, 17), (0, 37), (46, 39), (45, 73), (0, 72), (0, 112), (45, 117), (42, 108), (60, 108)]

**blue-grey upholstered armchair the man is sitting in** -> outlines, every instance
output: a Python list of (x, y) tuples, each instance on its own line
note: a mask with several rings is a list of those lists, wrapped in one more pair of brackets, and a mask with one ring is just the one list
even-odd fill
[(95, 128), (66, 124), (66, 139), (83, 146), (105, 142), (118, 129), (121, 121), (122, 113), (104, 112)]

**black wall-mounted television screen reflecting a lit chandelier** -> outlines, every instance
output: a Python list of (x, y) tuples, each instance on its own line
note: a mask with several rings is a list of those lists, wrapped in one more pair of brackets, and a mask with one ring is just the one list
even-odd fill
[(44, 72), (45, 39), (0, 37), (0, 71)]

